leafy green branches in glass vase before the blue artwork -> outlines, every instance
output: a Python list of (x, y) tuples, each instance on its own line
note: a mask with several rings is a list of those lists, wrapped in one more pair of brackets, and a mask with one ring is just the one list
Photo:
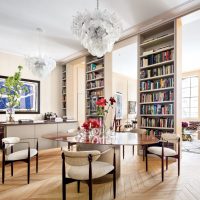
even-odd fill
[(27, 92), (27, 87), (21, 82), (21, 71), (23, 67), (18, 66), (18, 71), (13, 76), (9, 76), (2, 88), (0, 88), (0, 97), (6, 97), (6, 113), (8, 121), (13, 122), (15, 108), (20, 106), (20, 97)]

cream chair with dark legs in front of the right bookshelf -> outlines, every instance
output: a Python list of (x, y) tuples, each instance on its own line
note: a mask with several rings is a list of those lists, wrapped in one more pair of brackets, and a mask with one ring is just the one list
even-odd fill
[[(173, 144), (178, 150), (169, 148), (169, 144)], [(163, 133), (161, 135), (161, 146), (151, 146), (146, 148), (146, 171), (148, 171), (148, 154), (154, 154), (161, 158), (161, 175), (164, 181), (164, 158), (166, 158), (166, 170), (168, 169), (168, 158), (178, 159), (178, 176), (180, 175), (180, 137), (173, 133)]]

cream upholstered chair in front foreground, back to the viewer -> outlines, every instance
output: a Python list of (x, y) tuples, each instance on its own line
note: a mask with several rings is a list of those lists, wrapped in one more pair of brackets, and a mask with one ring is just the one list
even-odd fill
[(62, 198), (66, 199), (66, 184), (77, 181), (80, 192), (80, 181), (87, 181), (89, 186), (89, 200), (92, 200), (92, 180), (113, 174), (113, 196), (116, 196), (116, 161), (115, 150), (113, 164), (97, 161), (104, 152), (92, 151), (66, 151), (62, 152)]

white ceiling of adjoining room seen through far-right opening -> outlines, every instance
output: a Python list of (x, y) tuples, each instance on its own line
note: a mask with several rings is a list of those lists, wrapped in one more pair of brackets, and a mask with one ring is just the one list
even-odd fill
[(200, 11), (182, 17), (182, 72), (200, 70)]

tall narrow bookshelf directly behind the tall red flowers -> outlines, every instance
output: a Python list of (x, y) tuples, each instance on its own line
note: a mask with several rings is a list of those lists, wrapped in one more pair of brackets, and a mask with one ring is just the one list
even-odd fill
[(105, 95), (104, 57), (86, 57), (86, 119), (99, 118), (96, 101)]

